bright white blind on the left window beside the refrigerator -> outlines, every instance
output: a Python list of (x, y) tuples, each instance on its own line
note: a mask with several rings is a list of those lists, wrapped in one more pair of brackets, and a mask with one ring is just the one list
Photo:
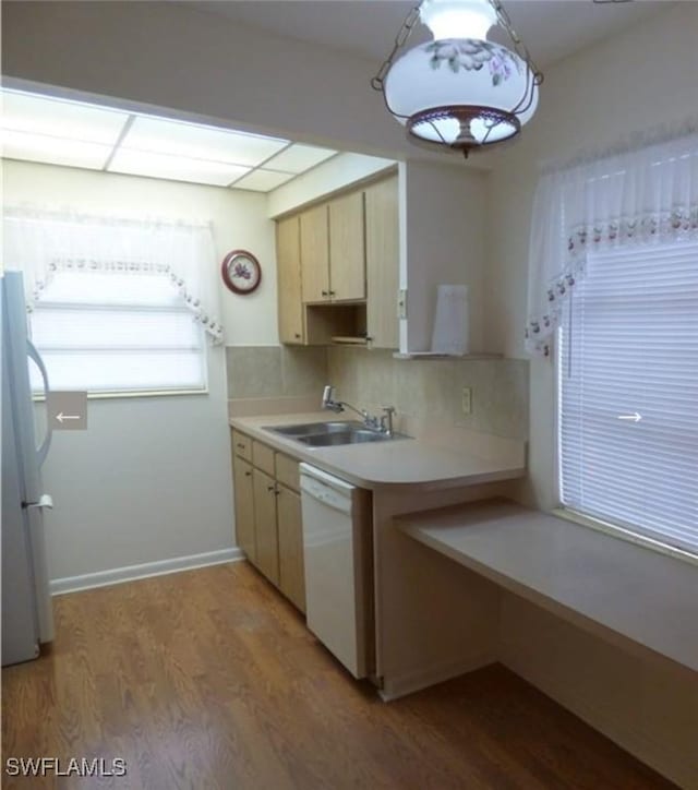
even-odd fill
[[(58, 272), (29, 314), (29, 327), (52, 390), (206, 387), (201, 324), (167, 274)], [(34, 366), (32, 372), (40, 391)]]

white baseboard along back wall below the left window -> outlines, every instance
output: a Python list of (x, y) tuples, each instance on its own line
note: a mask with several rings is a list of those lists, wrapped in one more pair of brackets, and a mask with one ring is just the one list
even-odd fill
[(127, 565), (115, 567), (109, 571), (86, 573), (82, 576), (65, 576), (55, 578), (49, 583), (51, 595), (59, 596), (65, 592), (76, 592), (93, 587), (107, 587), (122, 582), (133, 582), (137, 578), (148, 576), (163, 576), (167, 573), (179, 571), (191, 571), (195, 567), (206, 565), (220, 565), (225, 562), (243, 560), (244, 555), (238, 548), (220, 549), (219, 551), (207, 551), (203, 554), (190, 554), (188, 556), (174, 556), (171, 560), (158, 560), (157, 562), (144, 562), (142, 565)]

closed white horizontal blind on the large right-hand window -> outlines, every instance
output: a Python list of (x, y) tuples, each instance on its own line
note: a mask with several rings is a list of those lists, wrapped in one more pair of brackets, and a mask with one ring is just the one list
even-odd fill
[(563, 504), (698, 552), (698, 244), (590, 254), (561, 336)]

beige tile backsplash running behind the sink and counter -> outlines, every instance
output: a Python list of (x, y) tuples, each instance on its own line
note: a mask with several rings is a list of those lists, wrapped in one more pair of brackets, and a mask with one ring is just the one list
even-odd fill
[[(332, 383), (341, 400), (399, 416), (452, 424), (504, 439), (528, 439), (529, 366), (521, 359), (397, 360), (364, 348), (229, 346), (228, 397), (312, 398)], [(461, 410), (462, 387), (472, 392)], [(314, 409), (314, 406), (313, 406)]]

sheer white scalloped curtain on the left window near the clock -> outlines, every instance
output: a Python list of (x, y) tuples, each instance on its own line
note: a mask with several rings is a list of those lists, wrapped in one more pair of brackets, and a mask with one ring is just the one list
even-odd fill
[(4, 265), (24, 273), (28, 310), (58, 272), (165, 273), (214, 344), (222, 343), (209, 225), (12, 207), (3, 226)]

